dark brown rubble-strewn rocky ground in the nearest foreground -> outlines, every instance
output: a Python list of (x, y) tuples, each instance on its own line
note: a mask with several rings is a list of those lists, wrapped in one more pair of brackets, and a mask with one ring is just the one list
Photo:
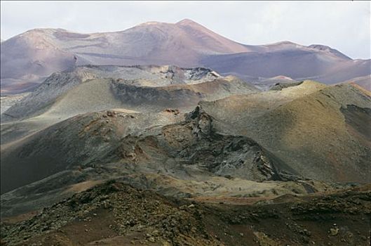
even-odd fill
[(370, 186), (253, 205), (166, 198), (109, 181), (29, 219), (2, 245), (369, 245)]

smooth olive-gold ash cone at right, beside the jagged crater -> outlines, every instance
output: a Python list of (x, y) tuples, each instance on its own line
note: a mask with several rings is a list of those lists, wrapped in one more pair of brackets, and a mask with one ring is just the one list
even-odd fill
[(217, 131), (255, 139), (302, 176), (371, 181), (371, 97), (356, 86), (306, 81), (200, 106)]

